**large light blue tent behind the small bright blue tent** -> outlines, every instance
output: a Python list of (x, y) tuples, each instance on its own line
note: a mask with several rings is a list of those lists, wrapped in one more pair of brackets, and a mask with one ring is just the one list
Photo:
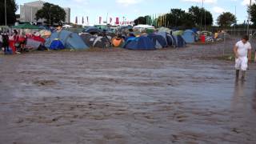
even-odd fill
[(61, 30), (60, 32), (51, 34), (50, 38), (46, 40), (46, 47), (50, 48), (50, 44), (56, 39), (60, 40), (63, 46), (68, 49), (82, 50), (89, 48), (78, 34), (67, 30)]

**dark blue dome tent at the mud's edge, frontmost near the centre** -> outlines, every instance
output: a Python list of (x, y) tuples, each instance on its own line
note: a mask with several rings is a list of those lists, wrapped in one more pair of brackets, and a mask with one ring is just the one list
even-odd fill
[(154, 43), (145, 36), (138, 38), (129, 38), (123, 48), (128, 50), (156, 50)]

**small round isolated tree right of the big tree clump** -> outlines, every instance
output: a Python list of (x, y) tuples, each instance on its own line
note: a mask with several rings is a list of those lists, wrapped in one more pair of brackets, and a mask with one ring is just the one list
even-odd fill
[(236, 21), (237, 18), (234, 16), (234, 14), (231, 14), (230, 12), (224, 12), (220, 14), (217, 18), (218, 26), (221, 26), (223, 28), (230, 27)]

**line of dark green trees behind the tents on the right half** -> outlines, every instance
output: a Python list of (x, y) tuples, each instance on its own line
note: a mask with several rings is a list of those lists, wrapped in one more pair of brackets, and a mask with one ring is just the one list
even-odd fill
[[(253, 26), (256, 27), (256, 4), (248, 6), (247, 12), (250, 14), (250, 21), (253, 23)], [(160, 16), (146, 15), (134, 20), (135, 25), (148, 24), (157, 27), (166, 26), (181, 29), (209, 27), (213, 25), (213, 22), (214, 19), (210, 11), (198, 6), (191, 6), (188, 12), (182, 9), (171, 9), (167, 14)], [(217, 24), (221, 28), (230, 28), (230, 26), (234, 25), (242, 27), (246, 25), (246, 21), (243, 24), (237, 25), (237, 18), (234, 14), (223, 12), (218, 16)]]

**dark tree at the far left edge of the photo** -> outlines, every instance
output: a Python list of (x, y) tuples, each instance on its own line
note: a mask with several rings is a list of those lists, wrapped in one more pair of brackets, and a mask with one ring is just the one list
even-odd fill
[(18, 6), (15, 0), (6, 0), (6, 15), (5, 17), (5, 1), (0, 1), (0, 25), (5, 25), (6, 20), (8, 25), (14, 24), (16, 22), (15, 12), (18, 10)]

